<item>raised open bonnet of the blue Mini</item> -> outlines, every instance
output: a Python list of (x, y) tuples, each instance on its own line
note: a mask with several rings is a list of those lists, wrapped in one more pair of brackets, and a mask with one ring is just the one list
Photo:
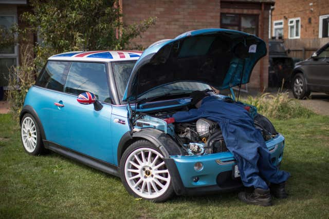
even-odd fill
[(160, 41), (136, 62), (122, 101), (175, 82), (201, 82), (218, 90), (249, 82), (254, 65), (266, 55), (257, 36), (227, 29), (201, 29)]

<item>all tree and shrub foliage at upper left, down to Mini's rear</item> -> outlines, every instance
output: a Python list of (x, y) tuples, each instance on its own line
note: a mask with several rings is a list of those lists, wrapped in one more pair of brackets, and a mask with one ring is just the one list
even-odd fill
[[(150, 17), (140, 24), (126, 26), (117, 0), (31, 0), (32, 12), (21, 20), (28, 27), (10, 30), (0, 28), (0, 48), (21, 44), (21, 66), (12, 67), (8, 78), (8, 99), (13, 116), (18, 119), (28, 88), (34, 84), (35, 73), (50, 55), (74, 50), (121, 50), (129, 48), (130, 40), (155, 23)], [(27, 45), (27, 33), (38, 34), (41, 43)], [(120, 34), (117, 34), (120, 33)], [(18, 88), (18, 89), (14, 89)]]

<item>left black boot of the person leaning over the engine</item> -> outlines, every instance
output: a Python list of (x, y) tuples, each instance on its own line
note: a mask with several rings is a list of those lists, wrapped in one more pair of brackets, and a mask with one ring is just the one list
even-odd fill
[(253, 192), (240, 192), (239, 198), (241, 201), (252, 204), (252, 205), (261, 205), (261, 206), (270, 206), (271, 203), (271, 194), (269, 189), (254, 189)]

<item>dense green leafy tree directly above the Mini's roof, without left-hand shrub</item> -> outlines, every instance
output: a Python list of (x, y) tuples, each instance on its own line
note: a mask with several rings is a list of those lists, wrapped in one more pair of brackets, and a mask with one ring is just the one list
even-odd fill
[(150, 17), (140, 24), (124, 25), (117, 0), (31, 0), (30, 4), (33, 12), (25, 12), (22, 19), (42, 39), (35, 46), (37, 65), (60, 52), (126, 49), (132, 38), (156, 20)]

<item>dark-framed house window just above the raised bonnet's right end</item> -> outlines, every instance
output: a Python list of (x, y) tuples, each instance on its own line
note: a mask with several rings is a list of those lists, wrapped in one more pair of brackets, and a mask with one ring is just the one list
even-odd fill
[(221, 28), (258, 35), (258, 15), (221, 14)]

